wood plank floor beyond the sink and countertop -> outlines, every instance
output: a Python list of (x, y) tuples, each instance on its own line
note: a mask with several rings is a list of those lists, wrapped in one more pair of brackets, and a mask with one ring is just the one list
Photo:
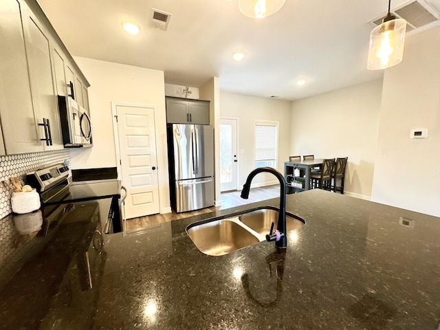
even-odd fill
[(241, 191), (222, 192), (221, 206), (217, 208), (212, 206), (211, 208), (203, 208), (202, 210), (191, 212), (176, 213), (173, 211), (165, 214), (153, 214), (140, 218), (127, 219), (125, 221), (126, 230), (137, 230), (147, 227), (148, 225), (157, 225), (159, 223), (192, 217), (197, 214), (209, 213), (215, 210), (223, 210), (225, 208), (234, 208), (235, 206), (276, 198), (280, 195), (280, 186), (276, 184), (274, 186), (252, 188), (250, 190), (249, 199), (242, 199), (240, 194)]

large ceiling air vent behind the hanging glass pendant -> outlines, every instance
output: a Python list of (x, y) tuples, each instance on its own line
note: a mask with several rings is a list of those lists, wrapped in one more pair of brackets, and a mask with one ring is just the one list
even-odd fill
[[(391, 14), (398, 19), (405, 19), (406, 32), (409, 34), (421, 32), (440, 25), (440, 12), (426, 0), (411, 0), (396, 8), (391, 8)], [(386, 17), (386, 12), (370, 22), (371, 25), (380, 25)]]

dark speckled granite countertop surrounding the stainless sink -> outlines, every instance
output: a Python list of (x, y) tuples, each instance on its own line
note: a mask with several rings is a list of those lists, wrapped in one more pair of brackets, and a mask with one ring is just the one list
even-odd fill
[[(261, 242), (208, 256), (185, 231), (277, 203), (105, 236), (94, 289), (63, 281), (50, 298), (26, 296), (25, 310), (3, 304), (0, 327), (40, 304), (32, 329), (438, 329), (440, 218), (309, 190), (287, 196), (287, 211), (307, 224), (285, 253)], [(17, 300), (38, 283), (21, 285)]]

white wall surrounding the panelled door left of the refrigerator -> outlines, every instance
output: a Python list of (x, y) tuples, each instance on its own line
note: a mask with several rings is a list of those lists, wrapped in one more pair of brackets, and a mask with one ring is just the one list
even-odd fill
[(89, 80), (89, 107), (93, 127), (92, 148), (71, 151), (72, 168), (116, 166), (111, 102), (148, 104), (157, 108), (159, 150), (157, 170), (161, 212), (170, 211), (164, 72), (91, 58), (75, 58)]

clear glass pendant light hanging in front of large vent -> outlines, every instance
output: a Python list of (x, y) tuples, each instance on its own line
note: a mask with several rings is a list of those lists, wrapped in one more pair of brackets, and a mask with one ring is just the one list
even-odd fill
[(369, 63), (370, 70), (386, 69), (399, 64), (404, 58), (406, 21), (396, 19), (390, 12), (391, 0), (388, 1), (388, 14), (381, 25), (371, 31)]

